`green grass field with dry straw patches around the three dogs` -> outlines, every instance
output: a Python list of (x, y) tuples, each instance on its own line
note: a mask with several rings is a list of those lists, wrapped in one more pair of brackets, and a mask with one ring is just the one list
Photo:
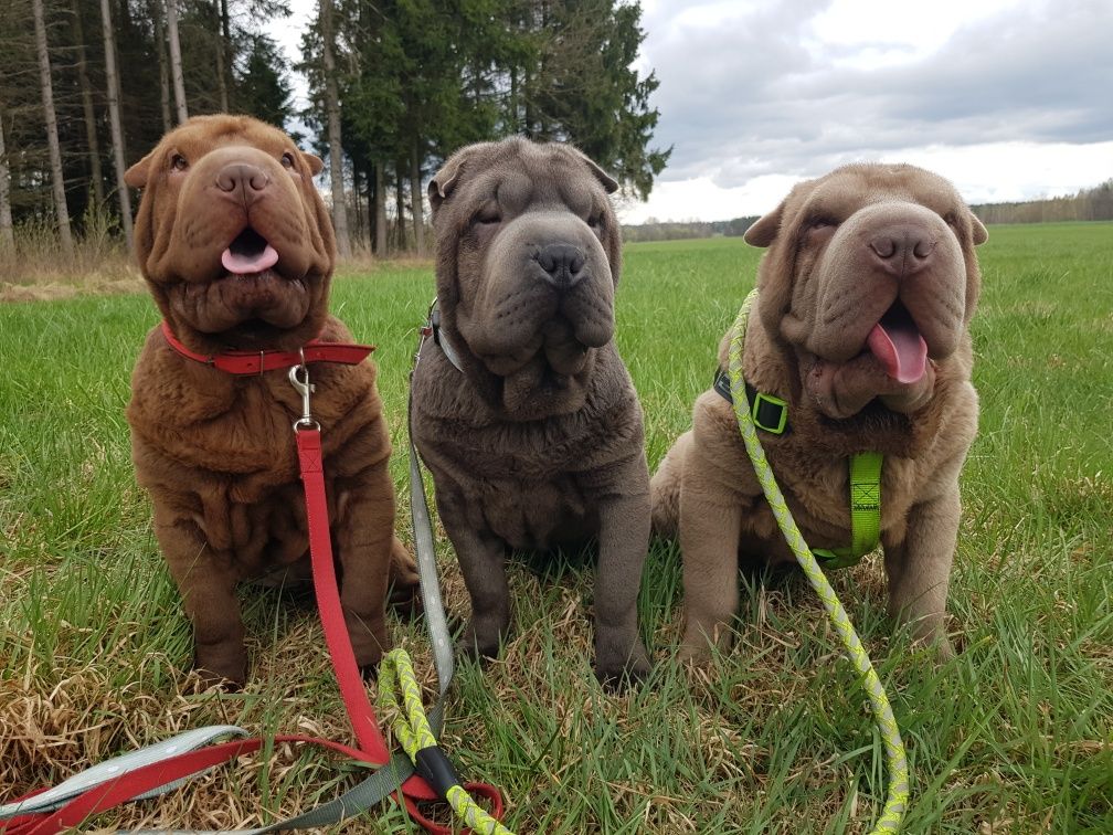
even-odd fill
[[(738, 239), (628, 247), (619, 342), (651, 468), (708, 386), (758, 254)], [(961, 654), (939, 666), (890, 635), (878, 559), (833, 580), (908, 746), (906, 832), (1113, 832), (1113, 225), (994, 227), (981, 254), (983, 411), (949, 605)], [(334, 288), (334, 310), (380, 346), (400, 495), (405, 377), (432, 293), (431, 271), (412, 266)], [(244, 691), (197, 692), (185, 677), (188, 625), (124, 420), (155, 322), (144, 295), (0, 305), (0, 803), (203, 724), (348, 739), (313, 611), (273, 592), (244, 591)], [(505, 788), (512, 829), (868, 829), (883, 749), (801, 578), (741, 578), (736, 647), (686, 669), (673, 661), (680, 558), (654, 543), (640, 613), (656, 669), (612, 696), (590, 668), (591, 569), (535, 569), (514, 566), (515, 635), (502, 660), (460, 670), (444, 735), (466, 776)], [(442, 578), (465, 615), (446, 549)], [(431, 682), (423, 628), (394, 635)], [(91, 825), (257, 825), (361, 773), (295, 754), (279, 746)], [(384, 806), (347, 831), (407, 827)]]

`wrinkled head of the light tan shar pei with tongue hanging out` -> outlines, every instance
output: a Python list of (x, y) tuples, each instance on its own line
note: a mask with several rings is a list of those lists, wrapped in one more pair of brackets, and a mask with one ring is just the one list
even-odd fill
[(827, 416), (875, 397), (913, 412), (977, 304), (985, 227), (943, 178), (913, 166), (839, 168), (792, 189), (746, 239), (770, 246), (760, 315)]

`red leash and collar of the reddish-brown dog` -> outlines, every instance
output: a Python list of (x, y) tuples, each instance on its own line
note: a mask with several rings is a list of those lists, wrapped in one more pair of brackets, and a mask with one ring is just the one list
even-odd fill
[[(311, 362), (338, 362), (354, 365), (363, 362), (374, 348), (367, 345), (314, 341), (297, 352), (229, 352), (216, 356), (205, 356), (186, 348), (174, 336), (165, 321), (161, 330), (170, 347), (183, 356), (229, 374), (262, 374), (264, 371), (290, 370), (290, 382), (302, 394), (302, 416), (294, 423), (294, 435), (297, 442), (298, 463), (305, 489), (314, 593), (333, 670), (359, 747), (356, 749), (328, 739), (302, 735), (276, 736), (274, 740), (319, 745), (356, 760), (385, 766), (390, 762), (391, 755), (382, 731), (378, 729), (371, 700), (367, 698), (341, 606), (336, 568), (333, 560), (332, 536), (328, 528), (321, 426), (313, 419), (309, 409), (313, 386), (308, 381), (307, 369), (307, 363)], [(303, 376), (298, 376), (298, 372), (302, 372)], [(230, 762), (243, 754), (257, 752), (263, 747), (264, 741), (262, 738), (237, 739), (132, 768), (116, 779), (93, 786), (52, 812), (36, 812), (0, 821), (0, 832), (6, 835), (47, 835), (48, 833), (62, 832), (79, 825), (90, 815), (135, 799), (168, 783)], [(491, 814), (495, 818), (502, 817), (502, 796), (498, 788), (485, 783), (466, 783), (464, 787), (472, 794), (486, 798), (492, 805)], [(45, 789), (32, 792), (18, 800), (31, 799), (41, 790)], [(412, 775), (393, 796), (405, 804), (410, 816), (427, 832), (434, 833), (434, 835), (451, 835), (451, 826), (435, 824), (418, 811), (417, 800), (437, 799), (436, 792), (421, 776)]]

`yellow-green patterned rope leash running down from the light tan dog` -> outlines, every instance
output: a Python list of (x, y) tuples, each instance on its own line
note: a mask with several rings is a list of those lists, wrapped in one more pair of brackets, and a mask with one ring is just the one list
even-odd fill
[[(889, 792), (885, 799), (885, 807), (881, 809), (881, 816), (873, 829), (873, 835), (890, 835), (900, 831), (900, 824), (904, 821), (905, 809), (908, 806), (908, 759), (905, 755), (904, 741), (900, 739), (900, 729), (897, 727), (896, 719), (893, 716), (893, 708), (889, 705), (888, 696), (885, 695), (885, 688), (881, 687), (881, 681), (877, 677), (877, 672), (874, 671), (874, 665), (870, 664), (869, 657), (866, 655), (866, 650), (861, 646), (861, 640), (858, 638), (858, 633), (855, 632), (854, 626), (850, 623), (850, 618), (847, 617), (846, 609), (843, 608), (843, 605), (835, 596), (835, 590), (824, 576), (823, 569), (819, 568), (819, 563), (816, 561), (815, 556), (812, 556), (811, 550), (808, 548), (808, 543), (804, 541), (804, 536), (800, 533), (800, 529), (797, 527), (796, 520), (792, 519), (792, 514), (789, 512), (788, 505), (785, 503), (785, 497), (781, 494), (780, 488), (777, 487), (777, 480), (774, 478), (772, 469), (769, 466), (769, 461), (766, 459), (765, 450), (761, 449), (761, 441), (758, 439), (757, 430), (754, 426), (754, 418), (750, 415), (749, 410), (742, 405), (747, 402), (746, 383), (742, 381), (742, 345), (746, 341), (746, 324), (749, 320), (750, 308), (752, 307), (756, 298), (756, 289), (746, 297), (746, 301), (742, 303), (742, 308), (738, 312), (738, 318), (735, 321), (730, 340), (730, 391), (733, 396), (735, 415), (738, 419), (738, 429), (742, 434), (742, 441), (746, 443), (746, 451), (749, 453), (750, 461), (754, 464), (754, 472), (757, 474), (758, 481), (761, 483), (761, 490), (765, 493), (766, 501), (769, 502), (769, 508), (777, 518), (777, 524), (780, 527), (780, 531), (785, 536), (785, 540), (788, 542), (789, 548), (792, 549), (792, 553), (800, 563), (800, 568), (804, 569), (804, 573), (807, 576), (808, 582), (811, 583), (811, 588), (814, 588), (816, 593), (819, 595), (819, 599), (823, 601), (824, 608), (827, 610), (827, 616), (830, 618), (831, 626), (834, 626), (835, 631), (838, 632), (838, 636), (843, 641), (843, 646), (850, 657), (850, 661), (858, 671), (861, 686), (866, 690), (866, 695), (869, 697), (869, 705), (874, 714), (874, 719), (877, 723), (881, 740), (885, 744), (885, 757), (889, 768)], [(876, 463), (867, 458), (861, 464), (859, 464), (859, 466), (863, 468), (859, 475), (868, 475), (869, 471), (876, 468), (878, 477), (877, 483), (879, 483), (880, 464), (880, 455), (876, 456)], [(855, 482), (853, 465), (851, 482)], [(879, 509), (879, 491), (874, 495), (877, 501), (873, 503), (876, 503)], [(856, 503), (858, 498), (859, 497), (855, 495), (853, 492), (851, 504)], [(870, 495), (868, 492), (866, 492), (861, 499), (863, 500), (857, 503), (863, 505), (871, 503), (869, 501)], [(863, 509), (859, 512), (861, 513), (861, 520), (865, 521), (865, 514), (867, 511)], [(851, 511), (851, 524), (854, 524), (856, 517), (857, 513)], [(861, 522), (859, 521), (858, 524), (861, 524)], [(879, 522), (877, 524), (879, 525)], [(854, 530), (855, 544), (857, 544), (859, 533), (858, 527), (855, 525)], [(866, 529), (864, 528), (860, 533), (865, 537), (867, 533)]]

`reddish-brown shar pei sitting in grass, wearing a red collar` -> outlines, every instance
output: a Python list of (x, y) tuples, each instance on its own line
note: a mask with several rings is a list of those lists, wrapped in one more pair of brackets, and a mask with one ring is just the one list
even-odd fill
[[(208, 356), (352, 341), (327, 311), (335, 239), (313, 185), (321, 167), (263, 122), (203, 116), (127, 171), (128, 185), (144, 189), (140, 268), (186, 348)], [(344, 616), (356, 660), (374, 665), (390, 646), (388, 574), (402, 597), (416, 583), (393, 536), (391, 446), (375, 366), (314, 363), (309, 375)], [(207, 681), (246, 676), (236, 584), (307, 576), (292, 430), (301, 413), (286, 370), (235, 376), (177, 353), (160, 327), (147, 335), (127, 412), (132, 458)]]

